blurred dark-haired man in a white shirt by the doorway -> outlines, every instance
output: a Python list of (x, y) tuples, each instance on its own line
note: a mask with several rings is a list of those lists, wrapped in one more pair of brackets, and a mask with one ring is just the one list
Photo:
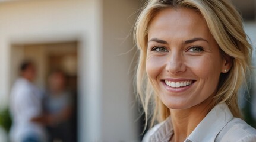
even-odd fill
[(35, 66), (32, 62), (24, 62), (20, 72), (10, 94), (13, 118), (10, 139), (12, 142), (46, 141), (42, 124), (48, 122), (48, 117), (42, 117), (43, 95), (32, 83), (36, 78)]

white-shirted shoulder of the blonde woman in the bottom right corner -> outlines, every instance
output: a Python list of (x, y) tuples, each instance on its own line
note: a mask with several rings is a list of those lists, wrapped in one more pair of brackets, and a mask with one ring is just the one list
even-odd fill
[(217, 141), (256, 141), (256, 130), (240, 118), (233, 118), (220, 131)]

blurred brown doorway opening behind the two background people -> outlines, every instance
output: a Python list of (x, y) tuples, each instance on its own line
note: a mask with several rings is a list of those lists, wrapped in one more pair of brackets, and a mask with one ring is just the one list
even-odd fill
[[(68, 140), (55, 138), (57, 141), (77, 141), (77, 68), (78, 41), (61, 43), (12, 44), (10, 56), (10, 83), (18, 78), (18, 69), (24, 60), (31, 60), (37, 68), (35, 84), (43, 91), (48, 89), (48, 77), (51, 72), (61, 70), (65, 74), (66, 89), (71, 94), (72, 112), (68, 118)], [(47, 94), (46, 94), (47, 95)]]

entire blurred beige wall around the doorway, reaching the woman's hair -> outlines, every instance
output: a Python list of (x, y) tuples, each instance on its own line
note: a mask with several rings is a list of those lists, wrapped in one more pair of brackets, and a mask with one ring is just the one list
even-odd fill
[(78, 41), (78, 140), (137, 141), (129, 74), (134, 51), (122, 53), (134, 46), (131, 36), (124, 39), (141, 4), (136, 0), (0, 3), (0, 108), (8, 104), (11, 76), (16, 73), (10, 64), (17, 65), (24, 54), (22, 47), (12, 51), (11, 45)]

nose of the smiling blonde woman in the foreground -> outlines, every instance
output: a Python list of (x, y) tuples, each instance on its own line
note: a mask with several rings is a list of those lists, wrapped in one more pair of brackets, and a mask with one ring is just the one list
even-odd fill
[(176, 51), (172, 51), (172, 53), (169, 54), (169, 57), (167, 58), (166, 71), (172, 75), (175, 75), (177, 73), (185, 72), (185, 70), (185, 60), (182, 54)]

